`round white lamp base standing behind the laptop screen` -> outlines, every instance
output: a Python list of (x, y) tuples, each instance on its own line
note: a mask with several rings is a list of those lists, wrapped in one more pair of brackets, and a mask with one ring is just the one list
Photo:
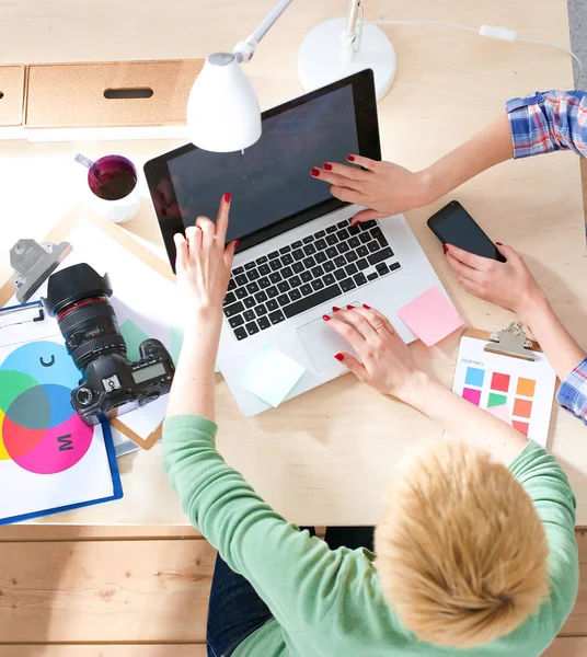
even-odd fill
[(360, 50), (352, 62), (341, 59), (341, 34), (346, 19), (332, 19), (316, 25), (303, 39), (298, 53), (298, 74), (306, 91), (313, 91), (335, 80), (370, 68), (375, 73), (377, 100), (391, 89), (398, 60), (388, 35), (376, 25), (365, 24)]

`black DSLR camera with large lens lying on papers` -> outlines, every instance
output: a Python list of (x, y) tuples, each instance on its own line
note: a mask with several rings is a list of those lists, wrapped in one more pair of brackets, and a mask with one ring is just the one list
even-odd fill
[(49, 277), (43, 303), (66, 341), (82, 378), (71, 405), (87, 425), (99, 424), (153, 402), (171, 389), (175, 367), (158, 339), (140, 344), (140, 360), (130, 361), (110, 302), (108, 275), (83, 263)]

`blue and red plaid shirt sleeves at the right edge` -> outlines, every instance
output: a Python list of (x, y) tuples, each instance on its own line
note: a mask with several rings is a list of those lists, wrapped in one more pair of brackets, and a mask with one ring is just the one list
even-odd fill
[[(587, 92), (546, 91), (506, 103), (514, 158), (556, 150), (587, 157)], [(556, 401), (587, 424), (587, 358), (562, 382)]]

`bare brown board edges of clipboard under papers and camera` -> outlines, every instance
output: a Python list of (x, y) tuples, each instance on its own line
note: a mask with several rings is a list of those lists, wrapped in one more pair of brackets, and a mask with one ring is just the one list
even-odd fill
[[(147, 265), (150, 269), (154, 270), (157, 274), (163, 276), (171, 283), (175, 283), (175, 277), (173, 276), (169, 265), (160, 260), (157, 255), (154, 255), (147, 247), (139, 244), (130, 234), (125, 232), (123, 229), (112, 223), (111, 221), (93, 214), (83, 204), (76, 204), (69, 212), (55, 226), (53, 230), (45, 237), (43, 242), (65, 242), (68, 241), (68, 235), (72, 230), (76, 229), (80, 222), (88, 222), (90, 226), (96, 228), (102, 233), (107, 235), (110, 239), (114, 240), (122, 246), (126, 252), (134, 255), (136, 258), (141, 261), (145, 265)], [(73, 244), (73, 250), (76, 249), (76, 244)], [(64, 265), (67, 266), (68, 260), (65, 261)], [(9, 278), (2, 287), (0, 287), (0, 308), (3, 308), (10, 299), (15, 293), (14, 286), (12, 280)], [(116, 290), (115, 290), (116, 293)], [(149, 450), (151, 449), (158, 440), (161, 438), (163, 423), (161, 422), (146, 438), (142, 438), (138, 433), (133, 430), (127, 423), (125, 423), (124, 415), (119, 417), (112, 417), (111, 425), (117, 429), (123, 436), (131, 440), (139, 448)], [(124, 450), (123, 453), (127, 453), (127, 450)]]

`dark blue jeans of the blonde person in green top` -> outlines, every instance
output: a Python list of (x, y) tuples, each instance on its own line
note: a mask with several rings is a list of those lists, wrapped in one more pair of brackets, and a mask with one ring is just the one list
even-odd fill
[[(307, 527), (311, 535), (314, 528)], [(325, 541), (331, 550), (367, 548), (373, 551), (372, 527), (329, 527)], [(218, 555), (208, 603), (206, 643), (208, 657), (230, 657), (253, 632), (273, 618), (269, 608), (242, 576)]]

